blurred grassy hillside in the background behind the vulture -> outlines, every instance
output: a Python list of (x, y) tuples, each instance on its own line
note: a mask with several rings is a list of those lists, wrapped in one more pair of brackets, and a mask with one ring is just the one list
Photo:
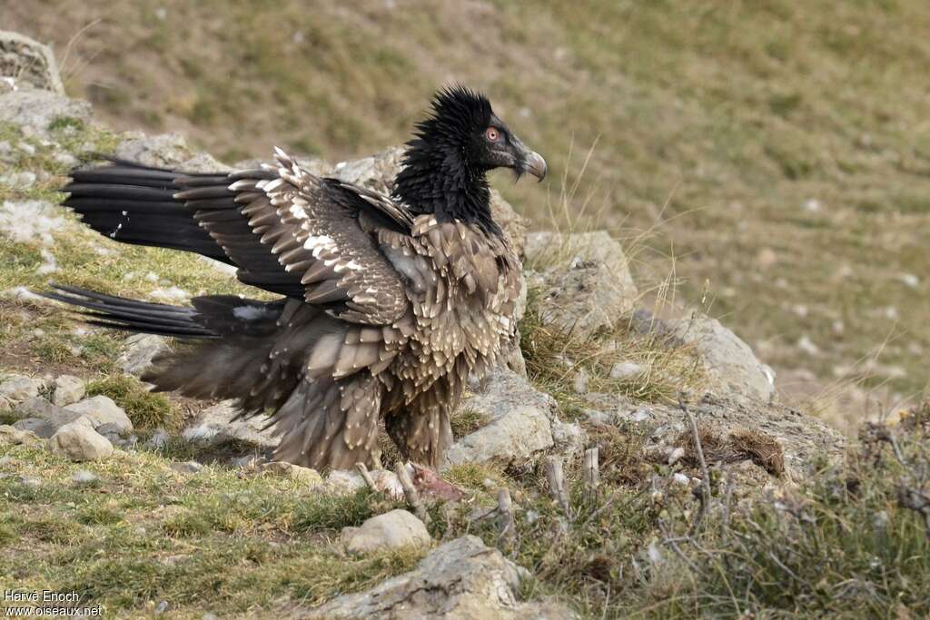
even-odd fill
[[(925, 386), (930, 283), (900, 280), (923, 276), (930, 246), (920, 0), (28, 4), (0, 18), (60, 55), (102, 19), (64, 69), (105, 119), (230, 160), (275, 142), (371, 152), (405, 137), (435, 85), (481, 87), (546, 154), (553, 192), (596, 141), (589, 212), (656, 232), (639, 270), (664, 275), (673, 251), (685, 297), (710, 284), (713, 313), (777, 369), (832, 380), (893, 336), (870, 384)], [(537, 188), (500, 185), (549, 218)]]

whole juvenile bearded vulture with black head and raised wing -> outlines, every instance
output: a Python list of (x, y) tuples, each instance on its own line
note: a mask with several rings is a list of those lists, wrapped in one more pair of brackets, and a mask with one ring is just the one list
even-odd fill
[(70, 286), (48, 293), (88, 323), (193, 339), (142, 380), (273, 412), (274, 458), (349, 468), (379, 454), (379, 420), (405, 458), (437, 467), (470, 373), (513, 336), (520, 263), (491, 217), (485, 174), (539, 179), (546, 163), (461, 86), (432, 99), (392, 195), (276, 165), (190, 174), (114, 161), (75, 170), (64, 202), (126, 244), (195, 252), (282, 297), (194, 297), (193, 308)]

